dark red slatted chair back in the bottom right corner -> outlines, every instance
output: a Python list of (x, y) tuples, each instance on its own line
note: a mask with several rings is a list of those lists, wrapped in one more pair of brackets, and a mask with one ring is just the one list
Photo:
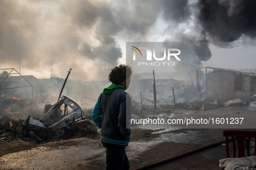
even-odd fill
[(256, 132), (255, 131), (243, 131), (243, 130), (224, 130), (223, 136), (226, 137), (226, 155), (227, 158), (230, 158), (229, 154), (229, 139), (228, 137), (232, 137), (233, 141), (233, 157), (236, 157), (236, 144), (235, 139), (237, 139), (237, 148), (238, 148), (238, 156), (237, 157), (245, 157), (245, 139), (248, 139), (246, 142), (247, 156), (250, 157), (250, 140), (254, 138), (254, 156), (256, 155)]

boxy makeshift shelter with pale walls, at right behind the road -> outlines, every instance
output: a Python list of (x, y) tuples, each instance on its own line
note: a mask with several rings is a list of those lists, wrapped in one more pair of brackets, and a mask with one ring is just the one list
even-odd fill
[[(211, 72), (207, 72), (211, 69)], [(250, 76), (253, 72), (206, 67), (205, 100), (250, 101)]]

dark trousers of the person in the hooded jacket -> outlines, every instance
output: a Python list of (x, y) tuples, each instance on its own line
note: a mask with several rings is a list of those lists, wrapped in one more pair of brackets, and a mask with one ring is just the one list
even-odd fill
[(125, 152), (125, 147), (117, 147), (102, 143), (107, 149), (107, 170), (129, 170), (130, 164)]

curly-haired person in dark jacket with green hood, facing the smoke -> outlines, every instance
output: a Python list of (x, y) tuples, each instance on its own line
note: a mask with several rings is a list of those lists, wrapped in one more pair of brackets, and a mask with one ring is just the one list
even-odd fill
[(100, 141), (107, 149), (107, 170), (128, 170), (125, 147), (131, 140), (131, 98), (126, 89), (130, 85), (130, 66), (114, 67), (108, 79), (112, 84), (104, 88), (95, 104), (92, 119), (101, 128)]

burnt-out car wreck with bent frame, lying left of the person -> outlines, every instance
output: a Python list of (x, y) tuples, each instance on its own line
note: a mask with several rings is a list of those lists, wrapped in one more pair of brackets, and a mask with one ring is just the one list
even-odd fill
[(76, 122), (82, 119), (81, 107), (71, 99), (62, 96), (41, 118), (35, 119), (29, 116), (26, 120), (19, 119), (14, 132), (39, 140), (47, 140), (53, 136), (62, 137), (67, 133), (78, 132)]

